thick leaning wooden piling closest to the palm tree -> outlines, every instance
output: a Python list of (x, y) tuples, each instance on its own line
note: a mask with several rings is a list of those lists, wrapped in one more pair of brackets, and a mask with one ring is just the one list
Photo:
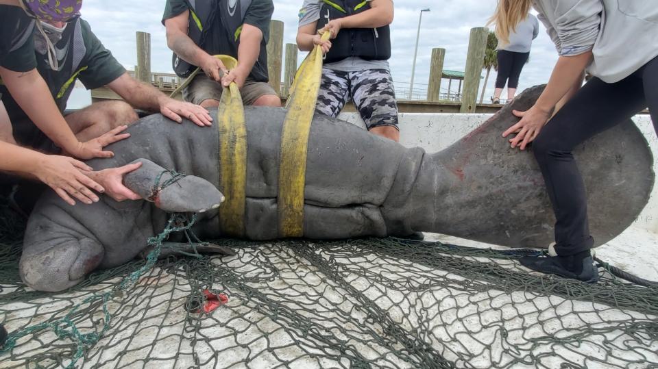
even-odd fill
[(480, 77), (485, 60), (485, 48), (489, 29), (476, 27), (471, 29), (466, 56), (466, 71), (464, 75), (464, 90), (461, 98), (462, 113), (474, 113), (480, 88)]

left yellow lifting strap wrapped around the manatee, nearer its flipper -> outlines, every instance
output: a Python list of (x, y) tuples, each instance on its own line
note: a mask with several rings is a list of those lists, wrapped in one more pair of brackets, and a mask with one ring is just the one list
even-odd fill
[[(238, 61), (228, 55), (215, 55), (227, 69)], [(217, 109), (219, 129), (219, 186), (226, 201), (219, 207), (221, 231), (228, 236), (245, 236), (247, 188), (247, 123), (240, 90), (235, 82), (224, 88)]]

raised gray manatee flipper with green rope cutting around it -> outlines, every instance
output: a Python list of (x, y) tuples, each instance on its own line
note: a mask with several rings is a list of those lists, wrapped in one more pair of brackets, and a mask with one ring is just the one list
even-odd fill
[(138, 159), (132, 163), (136, 162), (141, 162), (142, 166), (125, 175), (123, 183), (166, 212), (203, 213), (217, 209), (224, 201), (221, 192), (201, 177), (186, 175), (173, 178), (173, 173), (150, 160)]

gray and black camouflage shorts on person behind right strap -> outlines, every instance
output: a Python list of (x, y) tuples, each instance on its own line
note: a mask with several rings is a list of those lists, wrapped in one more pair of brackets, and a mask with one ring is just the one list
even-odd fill
[(395, 101), (393, 78), (386, 69), (341, 72), (322, 68), (322, 83), (315, 111), (337, 116), (350, 99), (368, 129), (382, 126), (398, 128), (398, 103)]

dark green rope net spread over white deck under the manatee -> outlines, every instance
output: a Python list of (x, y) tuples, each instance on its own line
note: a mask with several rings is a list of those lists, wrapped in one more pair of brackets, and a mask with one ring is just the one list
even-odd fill
[[(658, 288), (537, 275), (516, 260), (535, 251), (219, 240), (236, 255), (156, 260), (174, 217), (147, 261), (49, 294), (19, 279), (15, 218), (1, 368), (658, 368)], [(206, 290), (228, 302), (203, 312)]]

